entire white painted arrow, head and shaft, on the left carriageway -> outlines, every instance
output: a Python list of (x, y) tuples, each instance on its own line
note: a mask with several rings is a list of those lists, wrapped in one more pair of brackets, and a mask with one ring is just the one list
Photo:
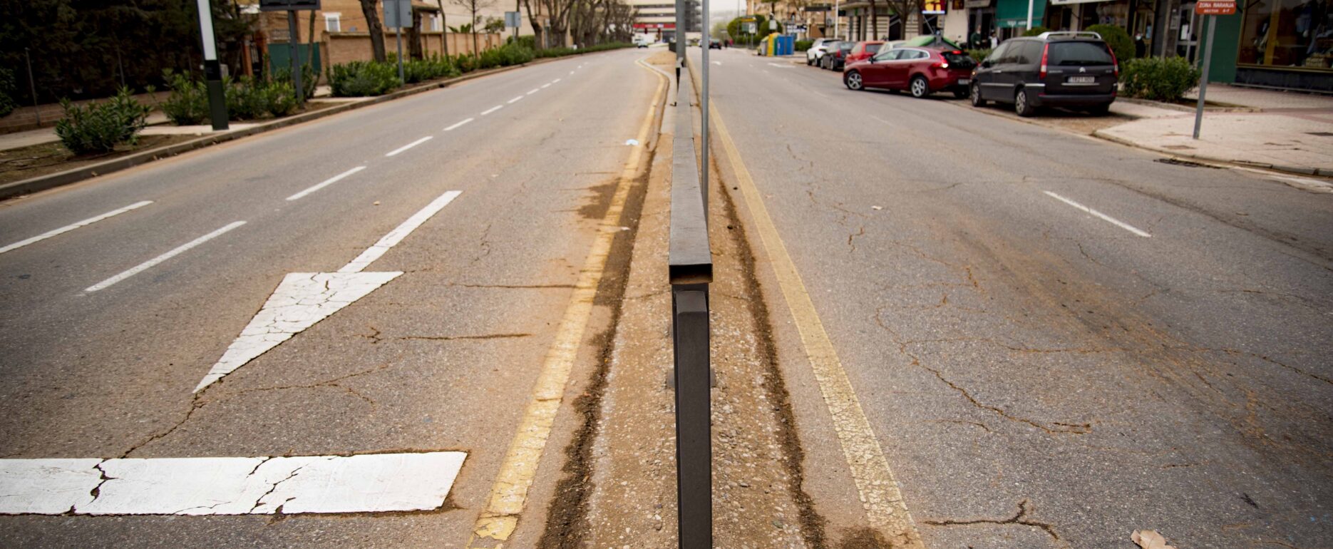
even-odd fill
[(377, 243), (361, 252), (352, 263), (343, 265), (336, 273), (288, 273), (268, 297), (259, 313), (251, 318), (223, 357), (208, 369), (195, 392), (204, 390), (213, 381), (244, 366), (260, 354), (292, 338), (316, 322), (328, 318), (344, 306), (365, 297), (376, 288), (397, 278), (401, 272), (363, 273), (361, 271), (384, 256), (417, 227), (449, 205), (461, 191), (449, 191), (427, 204), (407, 221), (403, 221)]

